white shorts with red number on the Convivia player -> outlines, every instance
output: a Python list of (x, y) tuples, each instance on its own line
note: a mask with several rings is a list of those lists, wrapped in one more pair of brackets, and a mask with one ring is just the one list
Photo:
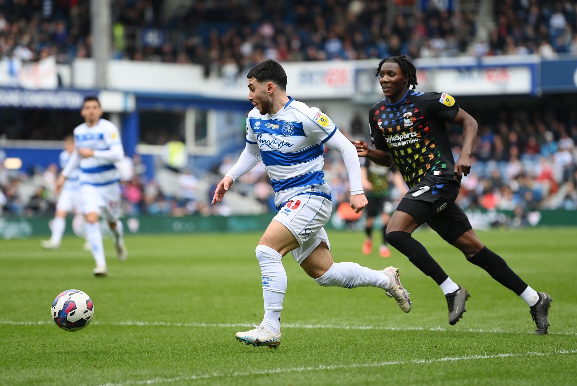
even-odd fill
[(331, 218), (332, 203), (329, 198), (300, 194), (280, 208), (273, 220), (282, 223), (297, 239), (299, 248), (293, 249), (291, 254), (300, 265), (309, 254), (323, 241), (328, 241), (325, 224)]

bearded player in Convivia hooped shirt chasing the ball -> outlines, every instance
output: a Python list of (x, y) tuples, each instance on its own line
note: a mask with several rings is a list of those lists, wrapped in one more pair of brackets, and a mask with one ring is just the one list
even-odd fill
[(246, 77), (248, 99), (255, 106), (246, 119), (246, 147), (217, 186), (212, 204), (222, 202), (233, 182), (262, 159), (279, 212), (256, 247), (263, 281), (263, 321), (250, 331), (238, 332), (236, 338), (253, 346), (279, 346), (280, 312), (287, 288), (282, 257), (288, 252), (321, 286), (383, 288), (409, 312), (409, 294), (400, 284), (398, 269), (373, 271), (332, 260), (323, 228), (332, 210), (331, 188), (323, 178), (323, 145), (343, 156), (351, 185), (350, 205), (358, 213), (367, 200), (355, 147), (318, 108), (287, 96), (287, 76), (279, 63), (258, 63)]

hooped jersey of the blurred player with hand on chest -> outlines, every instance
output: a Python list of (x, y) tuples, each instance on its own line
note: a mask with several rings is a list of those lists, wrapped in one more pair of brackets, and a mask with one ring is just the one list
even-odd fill
[[(122, 144), (120, 133), (114, 123), (100, 118), (89, 128), (86, 123), (74, 129), (76, 148), (108, 150), (112, 145)], [(99, 157), (80, 160), (80, 185), (105, 186), (119, 181), (118, 171), (113, 162)]]

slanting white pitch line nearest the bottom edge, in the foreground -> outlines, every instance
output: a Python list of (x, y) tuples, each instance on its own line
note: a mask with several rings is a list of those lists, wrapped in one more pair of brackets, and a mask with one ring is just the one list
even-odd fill
[(445, 358), (432, 358), (432, 359), (413, 359), (411, 361), (389, 361), (380, 363), (356, 363), (353, 365), (320, 365), (312, 367), (297, 367), (297, 368), (286, 368), (286, 369), (271, 369), (256, 372), (246, 372), (246, 373), (212, 373), (203, 375), (192, 375), (185, 377), (175, 377), (175, 378), (154, 378), (144, 381), (128, 381), (123, 383), (106, 383), (100, 386), (128, 386), (128, 385), (150, 385), (154, 383), (170, 383), (177, 381), (192, 381), (197, 379), (207, 379), (207, 378), (232, 378), (232, 377), (246, 377), (250, 375), (269, 375), (269, 374), (279, 374), (279, 373), (299, 373), (305, 371), (315, 371), (315, 370), (338, 370), (338, 369), (354, 369), (354, 368), (372, 368), (372, 367), (383, 367), (391, 365), (409, 365), (409, 364), (421, 364), (421, 363), (435, 363), (435, 362), (452, 362), (452, 361), (469, 361), (471, 359), (496, 359), (496, 358), (510, 358), (510, 357), (531, 357), (531, 356), (544, 356), (544, 355), (561, 355), (561, 354), (575, 354), (577, 350), (561, 350), (554, 351), (553, 353), (504, 353), (504, 354), (494, 354), (494, 355), (466, 355), (464, 357), (445, 357)]

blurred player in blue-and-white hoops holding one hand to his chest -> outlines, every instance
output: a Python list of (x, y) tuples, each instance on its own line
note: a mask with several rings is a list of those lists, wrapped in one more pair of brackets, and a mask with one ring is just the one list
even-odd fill
[(122, 239), (122, 223), (119, 218), (120, 188), (118, 171), (114, 162), (124, 157), (118, 128), (102, 119), (102, 108), (95, 96), (84, 99), (80, 114), (84, 123), (74, 129), (76, 151), (58, 179), (60, 189), (74, 168), (80, 165), (80, 193), (83, 213), (86, 216), (86, 237), (90, 243), (96, 268), (96, 276), (106, 276), (106, 258), (102, 245), (99, 216), (103, 215), (112, 231), (118, 259), (126, 260), (126, 248)]

